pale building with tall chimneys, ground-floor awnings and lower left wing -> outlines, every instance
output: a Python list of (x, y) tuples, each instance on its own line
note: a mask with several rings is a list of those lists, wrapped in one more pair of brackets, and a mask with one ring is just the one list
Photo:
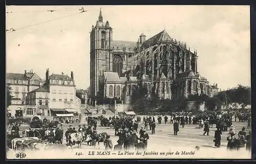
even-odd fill
[[(75, 94), (74, 74), (68, 75), (52, 74), (46, 71), (46, 81), (37, 89), (28, 93), (28, 114), (71, 117), (71, 113), (80, 113), (81, 100)], [(64, 114), (64, 115), (63, 115)], [(71, 119), (71, 118), (70, 118)], [(69, 120), (70, 120), (69, 119)]]

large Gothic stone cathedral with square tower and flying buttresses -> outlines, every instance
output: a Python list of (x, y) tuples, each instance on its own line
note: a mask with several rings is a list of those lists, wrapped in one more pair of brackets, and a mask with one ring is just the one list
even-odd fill
[(139, 83), (161, 99), (188, 98), (189, 95), (214, 96), (218, 85), (210, 85), (198, 73), (198, 54), (186, 43), (171, 38), (163, 30), (138, 41), (113, 40), (109, 21), (100, 10), (90, 33), (90, 98), (98, 94), (130, 103), (133, 88)]

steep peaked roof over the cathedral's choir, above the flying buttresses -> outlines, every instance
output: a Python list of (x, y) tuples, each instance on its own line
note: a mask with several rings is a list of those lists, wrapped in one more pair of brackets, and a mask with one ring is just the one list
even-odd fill
[(165, 30), (163, 30), (160, 33), (156, 34), (155, 36), (153, 36), (153, 37), (147, 39), (146, 41), (144, 41), (142, 43), (142, 48), (143, 47), (148, 48), (148, 47), (150, 47), (151, 44), (154, 44), (154, 43), (159, 42), (159, 41), (167, 41), (167, 40), (171, 41), (172, 38), (170, 38), (168, 33)]

